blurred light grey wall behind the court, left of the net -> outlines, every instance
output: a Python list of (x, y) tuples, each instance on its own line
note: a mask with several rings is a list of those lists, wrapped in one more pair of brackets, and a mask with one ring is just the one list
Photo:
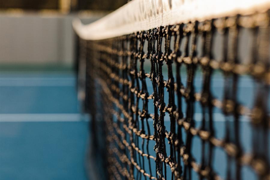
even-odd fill
[[(71, 65), (74, 59), (71, 22), (76, 17), (76, 14), (0, 13), (0, 63)], [(91, 22), (98, 18), (86, 19)]]

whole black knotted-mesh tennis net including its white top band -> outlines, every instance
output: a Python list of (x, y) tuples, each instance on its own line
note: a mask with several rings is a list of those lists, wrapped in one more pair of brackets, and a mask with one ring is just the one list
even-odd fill
[(270, 178), (269, 7), (133, 0), (73, 23), (104, 178)]

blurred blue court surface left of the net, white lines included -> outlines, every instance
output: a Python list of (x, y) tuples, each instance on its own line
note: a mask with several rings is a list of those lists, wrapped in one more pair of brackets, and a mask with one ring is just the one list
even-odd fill
[(0, 179), (88, 179), (74, 73), (0, 73)]

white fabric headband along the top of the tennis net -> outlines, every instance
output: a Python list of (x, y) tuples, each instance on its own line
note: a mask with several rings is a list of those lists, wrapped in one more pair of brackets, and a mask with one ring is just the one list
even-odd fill
[(85, 40), (113, 38), (152, 28), (207, 19), (262, 12), (270, 0), (132, 0), (103, 18), (73, 29)]

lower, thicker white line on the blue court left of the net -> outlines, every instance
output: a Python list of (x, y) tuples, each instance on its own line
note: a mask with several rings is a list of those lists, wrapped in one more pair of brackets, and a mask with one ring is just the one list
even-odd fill
[(81, 122), (89, 121), (87, 114), (0, 114), (0, 122)]

